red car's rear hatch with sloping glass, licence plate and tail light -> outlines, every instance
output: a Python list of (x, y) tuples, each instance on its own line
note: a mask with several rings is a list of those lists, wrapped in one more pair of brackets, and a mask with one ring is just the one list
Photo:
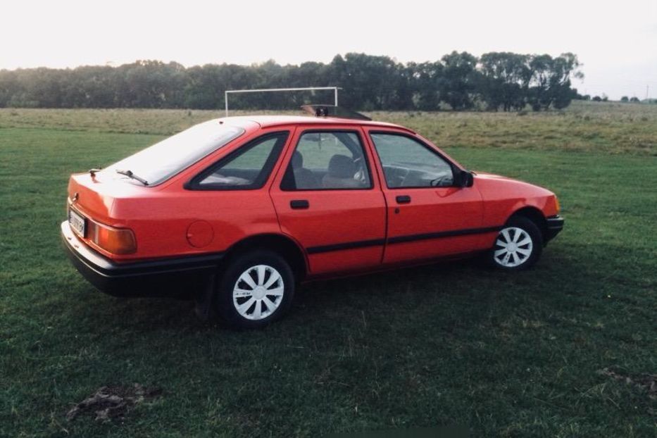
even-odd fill
[(68, 182), (70, 229), (106, 256), (137, 257), (134, 234), (139, 231), (134, 228), (149, 213), (144, 201), (157, 196), (174, 175), (244, 134), (242, 125), (253, 125), (229, 121), (199, 123), (93, 175), (72, 175)]

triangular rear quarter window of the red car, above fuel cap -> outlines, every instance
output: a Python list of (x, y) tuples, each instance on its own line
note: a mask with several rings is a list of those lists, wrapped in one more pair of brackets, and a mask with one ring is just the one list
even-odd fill
[(248, 190), (263, 187), (280, 156), (288, 134), (266, 134), (245, 144), (195, 177), (192, 187), (213, 190)]

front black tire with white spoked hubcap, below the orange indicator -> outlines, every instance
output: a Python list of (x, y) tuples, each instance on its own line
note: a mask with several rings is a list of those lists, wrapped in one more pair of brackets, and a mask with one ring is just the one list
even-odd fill
[[(518, 232), (522, 230), (523, 232)], [(505, 234), (506, 231), (506, 234)], [(511, 249), (515, 251), (503, 251), (505, 247), (500, 245), (499, 242), (506, 242), (507, 237), (511, 240)], [(518, 237), (516, 237), (518, 236)], [(520, 245), (521, 242), (526, 242), (527, 237), (531, 239), (531, 244)], [(513, 242), (517, 239), (517, 242)], [(499, 251), (503, 251), (499, 253)], [(527, 253), (528, 254), (525, 254)], [(492, 249), (488, 251), (487, 262), (494, 268), (501, 270), (524, 270), (532, 267), (541, 257), (543, 251), (543, 234), (539, 230), (538, 225), (532, 220), (524, 216), (512, 216), (500, 230), (498, 237), (495, 239)], [(507, 254), (512, 252), (513, 254)], [(497, 253), (497, 254), (496, 254)], [(506, 263), (504, 258), (507, 258)], [(514, 264), (516, 263), (517, 264)]]

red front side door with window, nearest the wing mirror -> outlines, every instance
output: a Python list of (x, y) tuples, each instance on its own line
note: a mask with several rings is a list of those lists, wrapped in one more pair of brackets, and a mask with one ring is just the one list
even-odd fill
[(456, 187), (453, 165), (422, 139), (367, 129), (387, 201), (384, 263), (482, 249), (483, 203), (477, 187)]

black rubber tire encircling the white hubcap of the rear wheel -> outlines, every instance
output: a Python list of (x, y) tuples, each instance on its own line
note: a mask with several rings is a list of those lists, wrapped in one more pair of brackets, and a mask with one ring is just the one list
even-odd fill
[[(258, 265), (273, 268), (273, 270), (265, 270), (263, 277), (263, 282), (265, 284), (272, 277), (275, 277), (275, 273), (280, 275), (280, 282), (282, 282), (281, 284), (278, 280), (275, 280), (269, 289), (261, 289), (261, 292), (259, 293), (264, 294), (261, 298), (257, 298), (258, 294), (256, 294), (255, 288), (246, 284), (244, 280), (240, 280), (242, 275), (249, 275), (251, 281), (258, 284), (258, 270), (256, 268)], [(280, 297), (264, 292), (274, 291), (279, 289), (280, 286), (282, 286), (282, 296)], [(234, 298), (233, 292), (236, 287), (253, 292), (253, 294), (251, 294), (251, 296)], [(273, 251), (267, 250), (249, 251), (236, 256), (228, 263), (225, 270), (223, 270), (223, 275), (221, 275), (215, 288), (213, 306), (221, 320), (231, 327), (245, 329), (262, 328), (281, 318), (284, 313), (287, 313), (289, 307), (292, 306), (294, 289), (294, 273), (292, 272), (289, 263), (287, 263), (282, 256)], [(246, 301), (249, 301), (249, 299), (254, 299), (254, 301), (252, 301), (253, 304), (246, 307), (246, 309), (243, 310), (246, 315), (242, 315), (236, 306), (246, 306)], [(280, 299), (280, 301), (277, 301), (278, 299)], [(265, 313), (265, 309), (269, 310), (268, 302), (277, 304), (277, 307), (273, 308), (269, 315), (263, 316), (261, 319), (249, 319), (256, 318), (256, 313), (258, 312), (256, 306), (260, 306), (258, 308), (260, 314)]]

